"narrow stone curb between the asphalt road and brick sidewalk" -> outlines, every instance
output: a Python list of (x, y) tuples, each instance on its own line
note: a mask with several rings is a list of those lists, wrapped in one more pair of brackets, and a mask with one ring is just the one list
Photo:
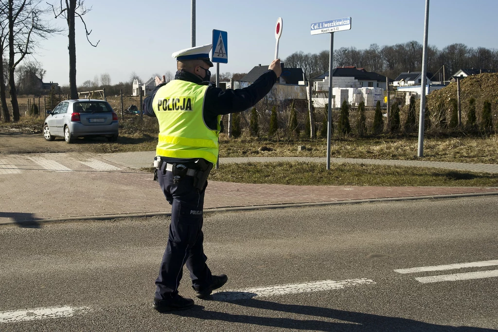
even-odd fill
[[(463, 197), (480, 197), (480, 196), (498, 196), (497, 192), (488, 193), (468, 193), (468, 194), (448, 194), (448, 195), (431, 195), (431, 196), (412, 196), (412, 197), (392, 197), (392, 198), (373, 198), (373, 199), (363, 199), (363, 200), (349, 200), (349, 201), (334, 201), (334, 202), (319, 202), (319, 203), (283, 203), (283, 204), (270, 204), (270, 205), (253, 205), (253, 206), (241, 206), (241, 207), (225, 207), (225, 208), (210, 208), (204, 209), (206, 213), (216, 213), (216, 212), (230, 212), (230, 211), (251, 211), (251, 210), (263, 210), (263, 209), (286, 209), (286, 208), (300, 208), (300, 207), (312, 207), (312, 206), (329, 206), (329, 205), (346, 205), (346, 204), (362, 204), (362, 203), (376, 203), (376, 202), (398, 202), (398, 201), (417, 201), (417, 200), (428, 200), (428, 199), (452, 199), (452, 198), (463, 198)], [(120, 214), (120, 215), (104, 215), (104, 216), (82, 216), (82, 217), (69, 217), (69, 218), (47, 218), (47, 219), (31, 219), (20, 222), (0, 222), (2, 225), (11, 224), (23, 224), (30, 222), (64, 222), (64, 221), (84, 221), (84, 220), (113, 220), (122, 218), (147, 218), (147, 217), (157, 217), (166, 216), (170, 217), (170, 212), (157, 212), (157, 213), (140, 213), (140, 214)]]

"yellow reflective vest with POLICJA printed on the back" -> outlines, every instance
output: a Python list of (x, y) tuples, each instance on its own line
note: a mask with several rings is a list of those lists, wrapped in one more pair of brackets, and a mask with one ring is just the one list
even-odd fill
[(156, 156), (204, 158), (216, 164), (221, 116), (217, 130), (208, 128), (203, 117), (207, 89), (206, 85), (173, 80), (157, 90), (152, 101), (159, 121)]

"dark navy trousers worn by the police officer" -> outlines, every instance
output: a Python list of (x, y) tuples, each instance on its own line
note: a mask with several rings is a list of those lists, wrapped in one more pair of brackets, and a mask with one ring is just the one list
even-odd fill
[(187, 264), (192, 279), (192, 286), (204, 288), (211, 284), (211, 271), (206, 261), (202, 242), (202, 213), (204, 192), (194, 187), (194, 178), (184, 176), (178, 183), (173, 183), (173, 173), (157, 171), (157, 180), (166, 200), (171, 204), (171, 224), (168, 243), (162, 257), (159, 276), (157, 277), (155, 297), (167, 299), (178, 294), (178, 286)]

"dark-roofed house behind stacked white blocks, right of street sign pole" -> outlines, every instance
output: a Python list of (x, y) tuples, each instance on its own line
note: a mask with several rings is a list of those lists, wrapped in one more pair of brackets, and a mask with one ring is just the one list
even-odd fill
[[(355, 66), (337, 67), (332, 72), (333, 88), (380, 88), (385, 90), (386, 77), (377, 73), (368, 72), (365, 68)], [(329, 72), (313, 78), (315, 91), (328, 91)], [(392, 80), (389, 79), (390, 82)]]

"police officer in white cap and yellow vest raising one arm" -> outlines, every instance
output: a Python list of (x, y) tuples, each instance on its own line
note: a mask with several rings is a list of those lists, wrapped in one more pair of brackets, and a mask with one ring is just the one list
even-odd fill
[(178, 294), (185, 264), (198, 298), (209, 296), (227, 282), (226, 275), (211, 274), (202, 232), (204, 192), (218, 159), (221, 115), (254, 106), (281, 73), (277, 59), (249, 87), (222, 91), (210, 83), (211, 48), (210, 44), (173, 53), (178, 69), (175, 79), (159, 84), (143, 103), (144, 113), (159, 122), (154, 166), (161, 190), (172, 206), (168, 242), (155, 281), (153, 307), (159, 312), (194, 305), (192, 299)]

